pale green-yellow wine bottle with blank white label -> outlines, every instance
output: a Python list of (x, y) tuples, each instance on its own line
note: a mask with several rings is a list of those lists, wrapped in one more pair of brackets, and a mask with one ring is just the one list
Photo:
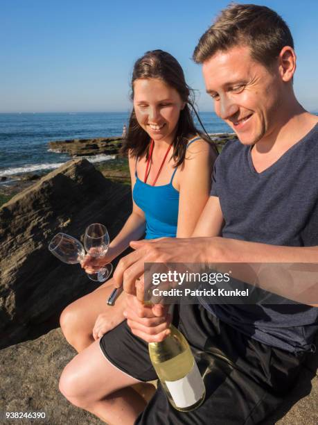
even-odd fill
[(170, 403), (187, 412), (204, 401), (204, 382), (186, 338), (175, 326), (170, 331), (164, 341), (149, 343), (150, 359)]

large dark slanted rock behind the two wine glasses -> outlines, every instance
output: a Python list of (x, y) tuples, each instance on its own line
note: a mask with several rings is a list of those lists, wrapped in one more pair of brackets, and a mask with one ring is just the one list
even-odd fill
[(49, 253), (53, 235), (80, 238), (88, 224), (101, 222), (112, 238), (130, 210), (130, 188), (87, 160), (69, 161), (2, 206), (0, 348), (56, 327), (64, 306), (96, 288), (79, 265)]

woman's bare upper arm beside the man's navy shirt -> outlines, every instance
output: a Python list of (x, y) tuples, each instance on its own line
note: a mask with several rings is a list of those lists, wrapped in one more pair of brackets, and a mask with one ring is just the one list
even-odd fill
[(209, 199), (215, 153), (209, 143), (196, 140), (186, 151), (179, 173), (177, 238), (190, 238)]

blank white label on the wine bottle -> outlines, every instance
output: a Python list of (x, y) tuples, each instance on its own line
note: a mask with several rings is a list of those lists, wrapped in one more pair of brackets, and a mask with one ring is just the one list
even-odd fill
[(197, 403), (205, 390), (200, 371), (195, 362), (191, 371), (184, 378), (177, 381), (165, 381), (165, 383), (178, 408), (187, 408)]

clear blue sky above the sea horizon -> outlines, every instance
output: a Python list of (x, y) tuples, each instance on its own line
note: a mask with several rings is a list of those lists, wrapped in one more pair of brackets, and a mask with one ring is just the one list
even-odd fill
[[(211, 111), (201, 67), (191, 56), (228, 3), (0, 0), (0, 113), (127, 112), (132, 67), (152, 49), (179, 60), (197, 90), (198, 108)], [(298, 58), (294, 90), (306, 109), (317, 112), (318, 1), (254, 3), (273, 8), (289, 24)]]

